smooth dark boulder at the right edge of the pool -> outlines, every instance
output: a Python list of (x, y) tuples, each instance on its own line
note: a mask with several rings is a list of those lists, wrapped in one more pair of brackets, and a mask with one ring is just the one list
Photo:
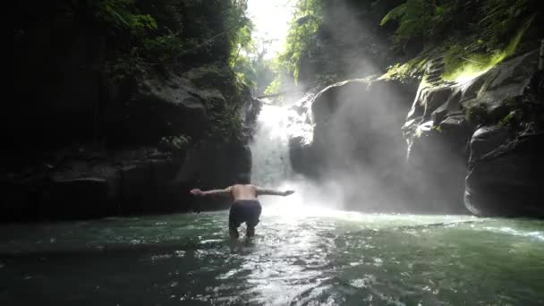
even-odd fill
[(478, 216), (544, 217), (544, 133), (516, 135), (498, 126), (472, 136), (464, 203)]

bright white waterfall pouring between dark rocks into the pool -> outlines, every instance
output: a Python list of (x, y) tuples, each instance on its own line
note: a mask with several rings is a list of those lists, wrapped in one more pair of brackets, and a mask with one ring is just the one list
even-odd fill
[[(263, 198), (268, 204), (268, 214), (308, 215), (329, 214), (321, 208), (338, 207), (342, 192), (336, 182), (316, 184), (293, 172), (289, 157), (289, 139), (300, 138), (310, 144), (313, 138), (311, 103), (315, 95), (308, 94), (284, 106), (262, 100), (251, 147), (251, 183), (280, 190), (293, 189), (295, 194), (287, 199)], [(289, 206), (288, 212), (285, 205)], [(321, 208), (318, 208), (321, 207)]]

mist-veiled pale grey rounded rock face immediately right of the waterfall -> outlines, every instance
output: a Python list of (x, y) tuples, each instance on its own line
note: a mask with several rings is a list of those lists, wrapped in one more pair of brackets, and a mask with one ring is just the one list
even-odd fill
[(321, 90), (299, 106), (314, 128), (311, 141), (290, 140), (293, 170), (338, 184), (348, 208), (402, 210), (408, 189), (400, 128), (413, 95), (410, 87), (385, 80)]

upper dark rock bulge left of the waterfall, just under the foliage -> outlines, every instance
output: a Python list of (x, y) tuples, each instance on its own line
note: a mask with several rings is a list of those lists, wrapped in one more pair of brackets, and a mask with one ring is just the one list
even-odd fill
[(207, 131), (210, 106), (225, 106), (218, 89), (200, 88), (186, 76), (169, 73), (166, 78), (144, 76), (135, 93), (107, 114), (110, 138), (122, 143), (156, 143), (164, 136)]

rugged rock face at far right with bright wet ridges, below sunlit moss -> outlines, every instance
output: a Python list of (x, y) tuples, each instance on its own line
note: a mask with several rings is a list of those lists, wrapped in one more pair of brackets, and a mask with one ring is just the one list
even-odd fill
[(421, 82), (403, 132), (430, 200), (463, 200), (480, 216), (542, 216), (537, 61), (531, 52), (463, 84)]

